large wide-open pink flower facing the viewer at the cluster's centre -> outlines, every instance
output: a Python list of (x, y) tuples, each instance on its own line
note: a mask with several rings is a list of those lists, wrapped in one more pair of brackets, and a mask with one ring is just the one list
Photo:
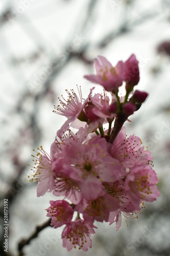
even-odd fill
[(125, 175), (119, 161), (108, 154), (107, 142), (101, 136), (94, 137), (87, 145), (66, 140), (62, 153), (65, 162), (75, 170), (70, 178), (78, 183), (86, 200), (103, 195), (102, 181), (115, 181)]

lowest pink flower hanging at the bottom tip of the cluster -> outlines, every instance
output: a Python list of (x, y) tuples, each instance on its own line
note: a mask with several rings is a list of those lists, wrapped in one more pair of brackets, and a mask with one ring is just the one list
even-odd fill
[(91, 234), (95, 233), (94, 229), (85, 223), (85, 221), (78, 219), (66, 224), (62, 232), (63, 247), (70, 251), (72, 248), (78, 246), (83, 251), (88, 251), (91, 248)]

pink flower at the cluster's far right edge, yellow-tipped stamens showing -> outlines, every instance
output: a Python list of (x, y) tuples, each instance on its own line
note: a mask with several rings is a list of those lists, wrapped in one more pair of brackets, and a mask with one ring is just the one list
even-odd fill
[(125, 178), (125, 189), (133, 203), (139, 200), (153, 202), (160, 192), (156, 186), (158, 178), (151, 166), (134, 166)]

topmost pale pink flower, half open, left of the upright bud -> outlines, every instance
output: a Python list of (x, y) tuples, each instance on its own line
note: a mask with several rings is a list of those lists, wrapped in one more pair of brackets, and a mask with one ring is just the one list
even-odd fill
[(119, 86), (122, 86), (124, 63), (119, 61), (115, 68), (111, 63), (103, 56), (98, 56), (98, 59), (94, 60), (94, 68), (96, 75), (85, 75), (87, 80), (94, 83), (101, 84), (105, 90), (114, 92)]

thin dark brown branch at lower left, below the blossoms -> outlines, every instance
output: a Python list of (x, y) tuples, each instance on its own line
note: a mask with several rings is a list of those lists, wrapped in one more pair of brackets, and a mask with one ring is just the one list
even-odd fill
[(24, 255), (22, 248), (24, 246), (26, 246), (27, 244), (29, 244), (31, 242), (32, 239), (38, 237), (38, 234), (41, 230), (43, 230), (45, 227), (50, 226), (51, 224), (51, 218), (49, 220), (47, 220), (45, 223), (43, 223), (40, 226), (36, 226), (36, 229), (34, 231), (33, 234), (31, 234), (31, 236), (27, 239), (22, 239), (19, 243), (18, 243), (18, 251), (19, 251), (19, 256)]

